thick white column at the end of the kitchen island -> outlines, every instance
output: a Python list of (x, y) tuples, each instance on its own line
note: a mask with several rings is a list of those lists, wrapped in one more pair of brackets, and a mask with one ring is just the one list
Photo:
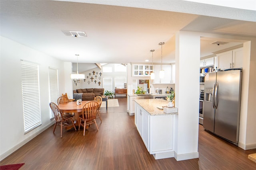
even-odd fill
[(200, 35), (176, 34), (176, 116), (174, 150), (176, 160), (198, 158)]

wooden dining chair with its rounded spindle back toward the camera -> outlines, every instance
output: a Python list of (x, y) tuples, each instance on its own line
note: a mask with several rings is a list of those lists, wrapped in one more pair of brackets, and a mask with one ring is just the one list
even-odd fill
[(90, 101), (87, 102), (82, 109), (82, 115), (79, 116), (80, 120), (79, 120), (79, 127), (78, 130), (80, 130), (80, 126), (84, 127), (84, 135), (85, 135), (85, 129), (86, 129), (86, 125), (91, 125), (93, 123), (95, 123), (97, 129), (98, 125), (96, 123), (96, 113), (99, 107), (99, 103), (96, 101)]

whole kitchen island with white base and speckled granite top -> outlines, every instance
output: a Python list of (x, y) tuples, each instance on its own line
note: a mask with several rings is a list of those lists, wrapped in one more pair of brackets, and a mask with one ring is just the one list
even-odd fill
[(135, 125), (150, 154), (155, 159), (174, 157), (175, 116), (178, 109), (172, 113), (164, 113), (162, 106), (168, 102), (162, 99), (140, 99), (135, 102)]

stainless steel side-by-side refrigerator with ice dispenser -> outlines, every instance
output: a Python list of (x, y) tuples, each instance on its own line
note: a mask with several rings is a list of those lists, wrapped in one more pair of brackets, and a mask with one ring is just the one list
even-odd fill
[(204, 129), (238, 145), (242, 70), (207, 73), (204, 78)]

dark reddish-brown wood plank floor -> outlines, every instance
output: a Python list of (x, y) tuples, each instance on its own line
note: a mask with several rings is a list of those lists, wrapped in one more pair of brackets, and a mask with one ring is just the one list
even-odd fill
[(101, 108), (103, 122), (86, 130), (55, 134), (53, 126), (0, 162), (1, 165), (25, 163), (20, 170), (255, 170), (256, 163), (243, 150), (204, 131), (199, 125), (199, 158), (176, 161), (155, 160), (134, 125), (134, 116), (126, 113), (126, 98), (118, 98), (120, 107)]

